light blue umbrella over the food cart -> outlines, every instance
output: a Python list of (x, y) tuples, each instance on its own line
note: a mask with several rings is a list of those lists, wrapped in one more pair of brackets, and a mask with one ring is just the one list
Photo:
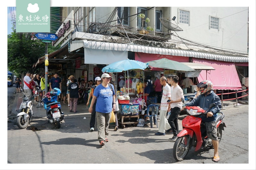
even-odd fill
[(132, 69), (144, 70), (147, 67), (148, 67), (148, 63), (142, 63), (139, 61), (126, 59), (126, 60), (117, 61), (115, 63), (109, 64), (108, 66), (102, 69), (102, 72), (112, 73), (112, 72), (122, 72), (122, 71), (127, 71)]

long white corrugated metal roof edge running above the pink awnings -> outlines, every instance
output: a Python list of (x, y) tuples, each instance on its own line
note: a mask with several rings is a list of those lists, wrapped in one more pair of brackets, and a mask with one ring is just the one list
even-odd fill
[(132, 51), (132, 52), (149, 53), (149, 54), (195, 57), (195, 58), (204, 58), (209, 60), (218, 60), (218, 61), (226, 61), (226, 62), (241, 62), (241, 63), (249, 62), (248, 57), (215, 55), (215, 54), (201, 53), (196, 51), (187, 51), (187, 50), (180, 50), (180, 49), (157, 48), (157, 47), (141, 46), (141, 45), (135, 45), (135, 44), (121, 44), (121, 43), (87, 41), (87, 40), (72, 41), (72, 43), (70, 44), (70, 51), (74, 51), (82, 47), (92, 48), (92, 49), (103, 49), (103, 50)]

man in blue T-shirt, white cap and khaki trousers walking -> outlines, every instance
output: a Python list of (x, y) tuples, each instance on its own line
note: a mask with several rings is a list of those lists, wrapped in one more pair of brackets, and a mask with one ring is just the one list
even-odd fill
[(110, 122), (110, 113), (116, 108), (116, 99), (114, 86), (109, 84), (111, 76), (108, 73), (101, 75), (102, 84), (98, 85), (92, 97), (91, 106), (89, 112), (92, 113), (92, 107), (97, 99), (96, 103), (96, 117), (98, 128), (98, 140), (100, 145), (103, 146), (105, 142), (108, 142), (108, 126)]

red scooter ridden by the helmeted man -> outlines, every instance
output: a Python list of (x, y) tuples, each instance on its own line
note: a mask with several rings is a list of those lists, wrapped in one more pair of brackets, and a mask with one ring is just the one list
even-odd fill
[[(184, 103), (184, 99), (182, 99)], [(210, 108), (215, 107), (215, 104), (210, 104)], [(209, 108), (209, 109), (210, 109)], [(202, 122), (200, 115), (207, 115), (206, 111), (197, 106), (186, 106), (187, 115), (182, 120), (183, 130), (178, 134), (178, 138), (173, 146), (173, 157), (177, 161), (182, 161), (188, 154), (188, 151), (192, 146), (196, 147), (195, 151), (198, 151), (202, 146), (207, 148), (213, 148), (212, 140), (207, 137), (205, 123)], [(220, 143), (222, 137), (222, 130), (226, 127), (225, 123), (222, 122), (224, 118), (223, 113), (218, 113), (216, 117), (217, 124), (217, 136)]]

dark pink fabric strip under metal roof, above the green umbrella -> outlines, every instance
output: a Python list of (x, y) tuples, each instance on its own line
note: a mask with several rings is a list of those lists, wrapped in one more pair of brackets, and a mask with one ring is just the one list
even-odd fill
[(146, 63), (148, 61), (158, 60), (161, 58), (167, 58), (169, 60), (173, 60), (173, 61), (177, 61), (177, 62), (189, 62), (189, 57), (135, 52), (135, 60), (143, 62), (143, 63)]

